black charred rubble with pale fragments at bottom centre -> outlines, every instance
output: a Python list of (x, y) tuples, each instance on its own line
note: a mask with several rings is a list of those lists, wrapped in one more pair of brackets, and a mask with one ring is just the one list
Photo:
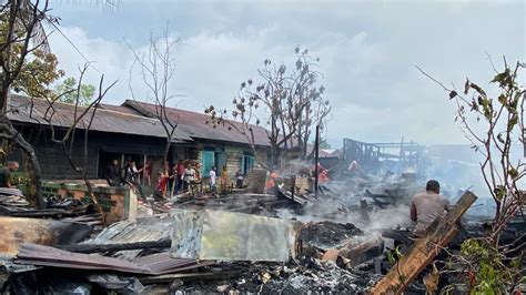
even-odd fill
[[(373, 285), (378, 275), (370, 272), (347, 271), (334, 263), (304, 256), (286, 264), (233, 263), (210, 267), (211, 272), (239, 275), (215, 281), (184, 282), (176, 291), (189, 293), (252, 293), (252, 294), (305, 294), (305, 293), (362, 293)], [(173, 291), (173, 289), (172, 289)]]

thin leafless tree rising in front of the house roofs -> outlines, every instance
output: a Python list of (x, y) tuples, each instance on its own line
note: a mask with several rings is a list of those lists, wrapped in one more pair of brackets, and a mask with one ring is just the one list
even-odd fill
[[(134, 57), (129, 78), (129, 88), (132, 99), (138, 101), (132, 83), (135, 67), (138, 67), (138, 72), (141, 77), (140, 83), (148, 89), (148, 96), (145, 100), (146, 102), (152, 101), (154, 104), (153, 112), (146, 109), (141, 110), (141, 112), (145, 115), (158, 119), (166, 134), (163, 163), (168, 162), (170, 146), (175, 140), (175, 131), (179, 124), (179, 118), (171, 116), (166, 111), (169, 104), (176, 98), (176, 95), (170, 90), (170, 83), (175, 73), (175, 57), (173, 51), (179, 42), (180, 39), (172, 39), (170, 37), (170, 29), (168, 26), (164, 28), (161, 39), (156, 39), (153, 32), (151, 33), (149, 48), (144, 51), (135, 50), (127, 42)], [(138, 104), (138, 106), (140, 106), (140, 104)], [(165, 165), (164, 170), (166, 170)], [(169, 172), (164, 171), (164, 173)]]

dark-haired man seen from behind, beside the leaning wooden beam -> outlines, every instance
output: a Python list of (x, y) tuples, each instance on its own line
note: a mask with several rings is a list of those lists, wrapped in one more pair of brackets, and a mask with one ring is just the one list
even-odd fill
[(431, 180), (426, 184), (426, 192), (413, 196), (411, 218), (416, 222), (414, 235), (423, 237), (427, 227), (438, 216), (447, 211), (449, 201), (441, 194), (441, 184)]

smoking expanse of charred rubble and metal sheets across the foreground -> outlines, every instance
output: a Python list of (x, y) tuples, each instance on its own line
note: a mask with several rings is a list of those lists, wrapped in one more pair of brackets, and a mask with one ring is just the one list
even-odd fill
[(105, 212), (79, 197), (37, 211), (0, 191), (0, 285), (17, 294), (354, 294), (380, 284), (391, 267), (385, 248), (409, 231), (388, 215), (388, 228), (371, 224), (407, 204), (415, 180), (356, 175), (317, 197), (296, 185), (150, 203), (117, 192)]

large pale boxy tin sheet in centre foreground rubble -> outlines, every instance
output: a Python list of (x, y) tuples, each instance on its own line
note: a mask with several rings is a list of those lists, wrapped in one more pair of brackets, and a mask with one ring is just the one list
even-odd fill
[(218, 261), (285, 262), (295, 233), (284, 220), (224, 211), (175, 211), (172, 255)]

